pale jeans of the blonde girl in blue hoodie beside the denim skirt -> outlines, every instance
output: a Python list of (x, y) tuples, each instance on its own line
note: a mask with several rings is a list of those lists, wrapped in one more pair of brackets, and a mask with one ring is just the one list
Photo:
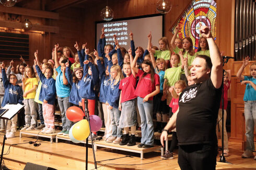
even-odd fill
[(122, 136), (122, 129), (119, 126), (120, 120), (120, 110), (118, 108), (114, 108), (112, 110), (108, 109), (110, 113), (111, 119), (111, 127), (112, 127), (112, 136), (121, 137)]

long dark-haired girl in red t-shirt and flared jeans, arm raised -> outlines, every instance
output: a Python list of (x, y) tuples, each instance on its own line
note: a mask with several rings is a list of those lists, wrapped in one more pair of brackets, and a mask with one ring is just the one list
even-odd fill
[(138, 110), (141, 115), (142, 139), (139, 148), (151, 148), (154, 146), (154, 125), (153, 125), (153, 97), (160, 92), (159, 75), (155, 74), (152, 62), (144, 60), (142, 69), (136, 68), (138, 55), (132, 62), (131, 68), (139, 77), (134, 94), (137, 97)]

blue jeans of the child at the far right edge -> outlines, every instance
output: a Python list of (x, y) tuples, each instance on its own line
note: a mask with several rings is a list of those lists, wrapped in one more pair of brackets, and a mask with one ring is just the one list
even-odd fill
[(253, 131), (256, 128), (256, 101), (245, 101), (246, 150), (254, 151)]

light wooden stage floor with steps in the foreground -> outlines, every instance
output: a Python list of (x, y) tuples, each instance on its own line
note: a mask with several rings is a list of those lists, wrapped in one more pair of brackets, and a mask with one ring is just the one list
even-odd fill
[[(50, 143), (49, 139), (43, 139), (41, 145), (34, 147), (29, 140), (35, 141), (35, 137), (16, 133), (15, 138), (7, 139), (4, 153), (10, 147), (9, 154), (4, 155), (5, 165), (10, 169), (23, 169), (26, 162), (32, 162), (56, 169), (85, 169), (85, 147), (83, 145), (72, 145), (64, 140), (59, 143)], [(24, 141), (25, 140), (25, 141)], [(2, 149), (3, 136), (0, 136)], [(220, 142), (220, 141), (219, 141)], [(23, 143), (13, 145), (15, 143)], [(90, 145), (89, 145), (90, 146)], [(241, 143), (229, 142), (230, 156), (226, 160), (232, 164), (217, 163), (216, 169), (256, 169), (256, 160), (253, 158), (241, 158)], [(178, 155), (172, 160), (162, 160), (160, 151), (144, 154), (144, 160), (140, 159), (138, 153), (131, 153), (108, 148), (100, 148), (96, 153), (98, 169), (180, 169)], [(89, 148), (89, 168), (94, 169), (92, 149)], [(254, 153), (255, 154), (255, 153)], [(16, 160), (16, 161), (15, 161)], [(219, 157), (217, 158), (219, 161)]]

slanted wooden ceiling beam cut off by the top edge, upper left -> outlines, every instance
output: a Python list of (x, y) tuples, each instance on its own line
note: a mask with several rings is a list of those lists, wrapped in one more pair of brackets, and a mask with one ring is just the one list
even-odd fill
[(46, 6), (46, 9), (49, 11), (57, 10), (57, 9), (63, 9), (68, 6), (72, 6), (75, 4), (80, 4), (83, 2), (86, 2), (88, 0), (55, 0), (51, 2), (49, 5)]

